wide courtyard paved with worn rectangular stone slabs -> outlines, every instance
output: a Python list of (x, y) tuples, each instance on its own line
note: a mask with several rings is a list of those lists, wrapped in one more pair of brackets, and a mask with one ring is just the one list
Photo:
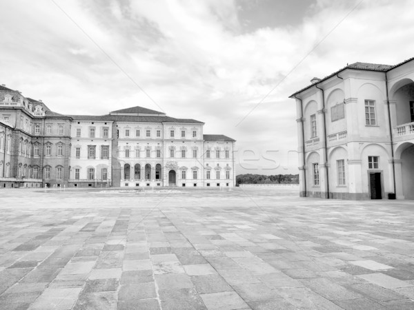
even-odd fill
[(414, 309), (414, 201), (0, 190), (0, 309)]

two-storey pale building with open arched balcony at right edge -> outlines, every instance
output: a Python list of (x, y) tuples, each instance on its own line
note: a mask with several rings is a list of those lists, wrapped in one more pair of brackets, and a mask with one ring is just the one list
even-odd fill
[(290, 98), (300, 196), (414, 199), (414, 59), (353, 63)]

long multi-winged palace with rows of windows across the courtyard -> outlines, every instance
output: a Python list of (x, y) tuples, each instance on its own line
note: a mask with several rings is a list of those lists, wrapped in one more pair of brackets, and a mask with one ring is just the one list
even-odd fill
[(0, 86), (0, 187), (233, 187), (235, 140), (144, 107), (62, 115)]

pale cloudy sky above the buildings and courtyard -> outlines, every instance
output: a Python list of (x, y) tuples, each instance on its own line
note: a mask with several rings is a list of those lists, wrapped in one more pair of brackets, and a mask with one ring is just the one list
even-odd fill
[(297, 173), (288, 96), (414, 56), (409, 0), (0, 0), (0, 84), (61, 114), (142, 106), (237, 140), (237, 174)]

